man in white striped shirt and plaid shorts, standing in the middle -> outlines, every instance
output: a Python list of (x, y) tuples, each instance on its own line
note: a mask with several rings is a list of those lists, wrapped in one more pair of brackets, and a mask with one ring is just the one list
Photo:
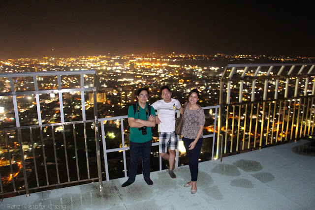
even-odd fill
[[(160, 90), (163, 99), (154, 102), (151, 106), (158, 111), (156, 118), (159, 132), (159, 154), (169, 161), (168, 174), (172, 179), (176, 179), (175, 150), (178, 149), (178, 136), (175, 134), (175, 113), (176, 109), (183, 115), (184, 109), (181, 103), (171, 98), (172, 93), (168, 86), (163, 86)], [(169, 148), (169, 154), (167, 153)]]

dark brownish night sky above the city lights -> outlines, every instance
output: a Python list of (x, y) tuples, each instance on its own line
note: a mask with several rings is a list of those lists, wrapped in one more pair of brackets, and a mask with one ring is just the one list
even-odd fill
[(153, 52), (315, 56), (315, 3), (306, 2), (0, 0), (0, 59)]

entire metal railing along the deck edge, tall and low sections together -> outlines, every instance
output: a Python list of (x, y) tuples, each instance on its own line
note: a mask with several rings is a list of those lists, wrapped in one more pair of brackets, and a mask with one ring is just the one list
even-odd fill
[[(313, 135), (314, 66), (313, 63), (227, 65), (220, 81), (220, 105), (203, 107), (212, 110), (212, 130), (203, 136), (212, 140), (211, 159)], [(2, 170), (5, 164), (1, 163), (0, 195), (18, 192), (29, 195), (32, 190), (95, 180), (101, 187), (102, 174), (110, 180), (108, 156), (114, 152), (123, 152), (122, 177), (127, 177), (129, 147), (125, 139), (127, 123), (124, 123), (127, 116), (98, 119), (94, 70), (0, 74), (0, 79), (8, 87), (0, 92), (0, 97), (7, 97), (13, 104), (10, 123), (0, 128), (0, 143), (4, 145), (1, 161), (7, 161), (5, 170)], [(21, 89), (23, 80), (28, 81), (28, 90)], [(58, 85), (50, 87), (52, 80)], [(38, 84), (38, 81), (43, 82)], [(91, 98), (86, 103), (88, 93)], [(23, 101), (26, 96), (30, 101)], [(91, 100), (93, 107), (89, 106)], [(81, 109), (81, 113), (71, 115), (73, 107)], [(121, 144), (108, 148), (106, 132), (110, 129), (105, 122), (114, 120), (118, 120)], [(158, 147), (157, 140), (153, 147)], [(161, 171), (162, 158), (158, 157)], [(179, 162), (177, 150), (176, 167)]]

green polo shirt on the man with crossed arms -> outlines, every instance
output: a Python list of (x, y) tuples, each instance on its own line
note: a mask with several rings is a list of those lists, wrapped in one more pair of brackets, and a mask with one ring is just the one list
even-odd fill
[[(137, 104), (139, 106), (139, 104)], [(133, 111), (133, 106), (130, 106), (128, 109), (128, 118), (134, 118), (134, 119), (141, 119), (141, 120), (148, 120), (149, 118), (149, 111), (148, 115), (146, 114), (146, 110), (148, 108), (148, 104), (144, 109), (139, 106), (139, 116), (138, 112)], [(151, 115), (156, 115), (156, 111), (154, 108), (151, 106)], [(142, 135), (142, 131), (139, 130), (137, 127), (130, 127), (130, 141), (131, 142), (136, 142), (136, 143), (144, 143), (148, 142), (152, 139), (152, 129), (151, 127), (147, 127), (147, 135)]]

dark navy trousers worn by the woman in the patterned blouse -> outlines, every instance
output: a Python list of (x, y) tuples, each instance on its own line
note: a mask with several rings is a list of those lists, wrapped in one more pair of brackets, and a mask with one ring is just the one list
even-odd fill
[(183, 137), (184, 146), (186, 148), (186, 154), (189, 162), (189, 169), (191, 175), (191, 181), (197, 181), (198, 178), (198, 159), (200, 157), (202, 138), (200, 138), (192, 150), (189, 150), (189, 145), (194, 139), (187, 139)]

